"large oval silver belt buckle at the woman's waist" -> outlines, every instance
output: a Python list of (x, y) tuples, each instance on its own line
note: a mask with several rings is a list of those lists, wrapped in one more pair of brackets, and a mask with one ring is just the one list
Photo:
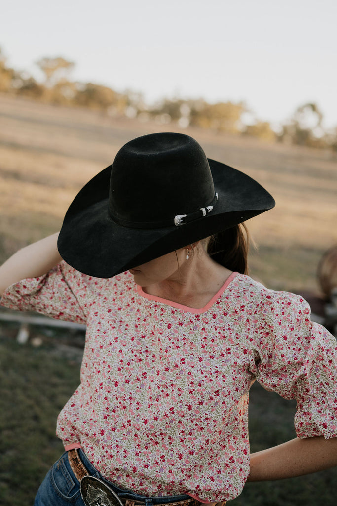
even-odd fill
[(86, 506), (124, 506), (114, 490), (93, 476), (84, 476), (80, 489)]

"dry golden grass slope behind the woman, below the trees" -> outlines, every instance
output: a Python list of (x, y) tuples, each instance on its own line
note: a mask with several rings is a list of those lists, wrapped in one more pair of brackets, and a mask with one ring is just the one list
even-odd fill
[[(52, 233), (81, 186), (128, 140), (172, 125), (114, 119), (0, 96), (0, 260)], [(322, 252), (337, 242), (336, 158), (329, 152), (264, 144), (201, 130), (207, 155), (257, 179), (276, 207), (248, 225), (259, 254), (252, 275), (275, 288), (315, 288)]]

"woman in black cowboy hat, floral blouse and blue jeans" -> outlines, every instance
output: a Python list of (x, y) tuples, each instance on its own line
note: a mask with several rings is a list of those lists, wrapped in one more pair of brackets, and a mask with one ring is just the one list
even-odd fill
[[(144, 136), (82, 188), (59, 236), (4, 264), (2, 304), (87, 324), (66, 452), (36, 505), (225, 502), (247, 480), (337, 465), (335, 340), (303, 299), (246, 274), (239, 224), (273, 205), (194, 139)], [(297, 399), (298, 437), (250, 454), (255, 379)]]

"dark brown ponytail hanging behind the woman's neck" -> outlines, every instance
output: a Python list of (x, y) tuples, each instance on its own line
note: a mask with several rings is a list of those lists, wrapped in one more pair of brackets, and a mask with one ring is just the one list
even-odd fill
[(210, 237), (207, 252), (231, 271), (248, 274), (249, 233), (244, 223)]

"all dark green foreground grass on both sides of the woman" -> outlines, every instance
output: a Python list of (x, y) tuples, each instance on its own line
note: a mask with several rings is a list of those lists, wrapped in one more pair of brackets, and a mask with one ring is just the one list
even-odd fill
[[(49, 335), (47, 344), (39, 348), (18, 345), (13, 339), (15, 331), (14, 324), (7, 325), (0, 340), (2, 506), (32, 504), (43, 477), (63, 452), (55, 436), (56, 418), (79, 383), (79, 350), (59, 347), (57, 334)], [(252, 451), (294, 438), (294, 413), (294, 402), (255, 384), (250, 402)], [(336, 482), (337, 469), (332, 469), (300, 478), (248, 483), (230, 504), (332, 506)]]

